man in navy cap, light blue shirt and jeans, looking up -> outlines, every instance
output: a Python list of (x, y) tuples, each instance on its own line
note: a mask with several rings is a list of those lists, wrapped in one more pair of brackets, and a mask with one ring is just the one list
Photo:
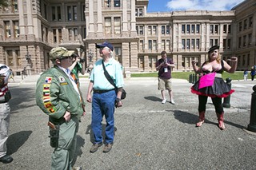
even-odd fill
[[(106, 138), (103, 152), (110, 152), (114, 142), (114, 107), (122, 107), (121, 95), (124, 81), (122, 77), (122, 66), (113, 58), (113, 45), (109, 42), (103, 42), (101, 45), (96, 44), (102, 57), (94, 64), (94, 69), (90, 74), (90, 84), (88, 88), (88, 102), (92, 103), (92, 121), (91, 128), (94, 132), (94, 144), (90, 152), (96, 152), (98, 147), (102, 146), (102, 117), (106, 118)], [(114, 80), (118, 88), (117, 92), (114, 85), (104, 74), (103, 66)], [(94, 92), (91, 97), (91, 92)]]

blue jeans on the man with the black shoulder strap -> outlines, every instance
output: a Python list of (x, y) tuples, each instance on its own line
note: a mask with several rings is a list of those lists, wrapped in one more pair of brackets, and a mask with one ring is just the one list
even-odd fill
[(94, 93), (92, 101), (91, 128), (94, 132), (94, 143), (102, 142), (102, 117), (106, 118), (105, 143), (113, 143), (114, 140), (114, 102), (116, 93), (111, 90), (106, 93)]

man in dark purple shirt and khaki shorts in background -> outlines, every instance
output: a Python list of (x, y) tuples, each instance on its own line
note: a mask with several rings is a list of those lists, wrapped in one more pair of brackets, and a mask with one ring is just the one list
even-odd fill
[(175, 105), (171, 82), (171, 69), (175, 67), (174, 62), (167, 58), (166, 51), (162, 51), (161, 59), (156, 63), (158, 71), (158, 90), (161, 90), (162, 104), (166, 103), (165, 90), (168, 90), (170, 103)]

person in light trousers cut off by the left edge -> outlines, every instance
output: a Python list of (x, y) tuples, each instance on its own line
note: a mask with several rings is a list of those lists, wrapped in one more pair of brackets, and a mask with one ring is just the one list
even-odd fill
[(10, 125), (10, 90), (8, 89), (8, 79), (11, 75), (7, 65), (0, 64), (0, 162), (8, 164), (14, 159), (7, 155), (6, 141)]

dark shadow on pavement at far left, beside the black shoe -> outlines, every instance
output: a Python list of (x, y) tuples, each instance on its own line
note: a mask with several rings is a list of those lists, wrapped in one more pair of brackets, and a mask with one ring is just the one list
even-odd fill
[(10, 135), (7, 139), (7, 154), (11, 155), (28, 140), (32, 131), (21, 131)]

